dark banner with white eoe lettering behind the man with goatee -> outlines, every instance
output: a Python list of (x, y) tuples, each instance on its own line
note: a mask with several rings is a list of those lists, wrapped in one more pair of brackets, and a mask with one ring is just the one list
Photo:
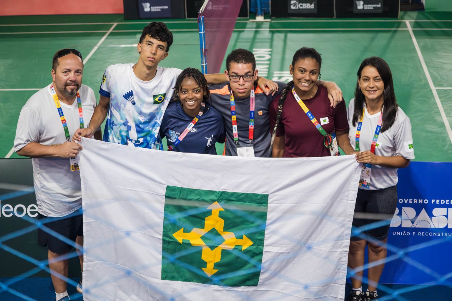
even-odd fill
[[(32, 223), (37, 215), (31, 159), (0, 159), (0, 277), (20, 276), (47, 259), (47, 247), (38, 245)], [(32, 277), (49, 274), (39, 271)], [(78, 257), (69, 259), (69, 277), (80, 277)]]

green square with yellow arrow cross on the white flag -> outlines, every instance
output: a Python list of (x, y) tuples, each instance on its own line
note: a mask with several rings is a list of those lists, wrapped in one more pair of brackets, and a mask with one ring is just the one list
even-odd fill
[(257, 286), (268, 194), (167, 186), (162, 280)]

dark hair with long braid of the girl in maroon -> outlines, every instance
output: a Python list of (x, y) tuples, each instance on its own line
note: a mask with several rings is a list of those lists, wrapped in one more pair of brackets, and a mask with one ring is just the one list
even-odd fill
[[(322, 66), (322, 56), (320, 55), (320, 53), (318, 53), (314, 48), (301, 47), (300, 49), (298, 49), (295, 52), (295, 54), (293, 55), (293, 58), (292, 58), (292, 66), (291, 66), (292, 69), (290, 70), (292, 75), (293, 75), (293, 68), (295, 67), (295, 64), (297, 63), (297, 61), (301, 60), (301, 59), (306, 59), (306, 58), (311, 58), (311, 59), (316, 60), (319, 63), (319, 72), (320, 72), (320, 67)], [(286, 100), (287, 93), (289, 93), (289, 91), (292, 90), (292, 87), (293, 87), (293, 80), (288, 82), (287, 85), (284, 86), (284, 89), (281, 92), (281, 97), (279, 98), (279, 102), (278, 102), (278, 115), (276, 116), (275, 127), (274, 127), (273, 133), (272, 133), (272, 140), (270, 142), (270, 150), (272, 149), (273, 141), (275, 140), (275, 137), (276, 137), (276, 129), (278, 128), (279, 121), (281, 121), (282, 105), (284, 104), (284, 101)]]

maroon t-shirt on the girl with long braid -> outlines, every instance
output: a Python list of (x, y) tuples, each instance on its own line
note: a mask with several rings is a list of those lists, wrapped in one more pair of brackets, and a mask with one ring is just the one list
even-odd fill
[[(347, 131), (348, 121), (345, 102), (333, 108), (330, 107), (330, 100), (326, 88), (318, 86), (315, 96), (308, 100), (303, 100), (306, 107), (321, 124), (322, 128), (332, 134), (334, 130)], [(275, 127), (276, 115), (278, 113), (278, 102), (281, 95), (276, 97), (270, 105), (270, 133)], [(326, 122), (324, 122), (324, 121)], [(321, 122), (322, 121), (322, 122)], [(287, 93), (286, 100), (282, 105), (281, 120), (279, 120), (276, 135), (286, 135), (286, 143), (283, 157), (327, 157), (331, 156), (330, 150), (323, 145), (323, 135), (314, 126), (293, 97), (292, 89)]]

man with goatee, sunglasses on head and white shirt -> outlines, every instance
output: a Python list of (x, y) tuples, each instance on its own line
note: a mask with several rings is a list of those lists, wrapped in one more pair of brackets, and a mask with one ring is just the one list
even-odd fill
[[(83, 269), (81, 183), (77, 154), (71, 142), (78, 128), (89, 126), (96, 107), (94, 92), (82, 85), (83, 60), (76, 49), (57, 51), (52, 60), (52, 83), (35, 93), (20, 111), (14, 151), (31, 157), (38, 219), (50, 229), (38, 229), (38, 243), (48, 247), (49, 268), (56, 301), (68, 301), (68, 257), (77, 244)], [(94, 133), (101, 139), (100, 130)], [(58, 233), (53, 236), (52, 232)], [(63, 241), (65, 240), (65, 241)], [(75, 244), (67, 242), (74, 241)], [(77, 285), (82, 292), (82, 282)]]

